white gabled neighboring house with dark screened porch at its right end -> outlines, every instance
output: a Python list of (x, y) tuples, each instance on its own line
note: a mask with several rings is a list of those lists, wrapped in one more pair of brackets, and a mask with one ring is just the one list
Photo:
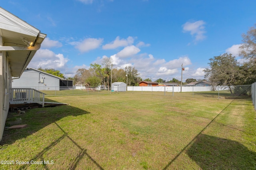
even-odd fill
[(73, 80), (64, 80), (35, 68), (26, 68), (20, 78), (12, 81), (12, 88), (34, 88), (36, 90), (73, 88)]

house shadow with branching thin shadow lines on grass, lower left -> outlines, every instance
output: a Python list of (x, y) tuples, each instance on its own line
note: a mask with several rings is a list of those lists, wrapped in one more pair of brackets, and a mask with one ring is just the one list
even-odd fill
[[(56, 102), (54, 100), (46, 99), (47, 102)], [(54, 123), (62, 132), (63, 135), (59, 137), (58, 139), (52, 141), (52, 143), (49, 143), (47, 147), (45, 147), (41, 152), (36, 154), (31, 160), (44, 160), (43, 155), (48, 152), (48, 150), (51, 150), (53, 147), (58, 145), (60, 141), (62, 141), (64, 138), (68, 138), (73, 145), (78, 147), (80, 150), (77, 154), (76, 158), (71, 162), (68, 169), (73, 170), (76, 168), (80, 160), (87, 156), (97, 167), (98, 169), (103, 170), (103, 168), (87, 153), (87, 150), (82, 148), (80, 145), (76, 143), (69, 135), (64, 131), (56, 121), (62, 119), (66, 116), (79, 116), (84, 114), (89, 114), (90, 112), (79, 109), (77, 107), (72, 107), (68, 105), (64, 106), (56, 106), (56, 107), (44, 107), (44, 108), (36, 108), (36, 109), (28, 109), (26, 110), (25, 114), (19, 115), (19, 117), (22, 118), (22, 124), (27, 124), (28, 126), (24, 129), (9, 129), (5, 130), (0, 145), (12, 145), (16, 140), (26, 138), (29, 135), (32, 135), (33, 133), (36, 133), (40, 129), (43, 129), (44, 127)], [(14, 115), (16, 113), (9, 113), (11, 115)], [(1, 146), (0, 146), (1, 147)], [(19, 167), (19, 169), (27, 169), (30, 166), (30, 164), (22, 165)], [(47, 164), (43, 164), (44, 169), (49, 169)]]

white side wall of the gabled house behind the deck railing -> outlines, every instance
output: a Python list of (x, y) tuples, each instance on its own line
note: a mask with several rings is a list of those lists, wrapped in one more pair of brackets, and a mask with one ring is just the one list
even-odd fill
[[(42, 80), (42, 82), (41, 82)], [(60, 79), (33, 69), (24, 70), (20, 78), (12, 80), (13, 88), (36, 90), (60, 90)]]

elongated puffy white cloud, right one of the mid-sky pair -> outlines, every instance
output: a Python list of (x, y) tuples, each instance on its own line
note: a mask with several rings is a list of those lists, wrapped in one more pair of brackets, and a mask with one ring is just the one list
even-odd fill
[(127, 39), (120, 39), (120, 37), (117, 36), (116, 39), (111, 43), (103, 45), (102, 49), (106, 50), (106, 49), (116, 49), (118, 47), (125, 47), (127, 45), (132, 45), (133, 41), (134, 41), (134, 38), (130, 36)]

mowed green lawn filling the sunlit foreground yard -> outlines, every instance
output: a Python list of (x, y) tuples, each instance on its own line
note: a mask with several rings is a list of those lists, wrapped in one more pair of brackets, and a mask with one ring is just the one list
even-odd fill
[(0, 169), (256, 169), (250, 98), (138, 92), (46, 100), (70, 105), (26, 110), (26, 128), (4, 131)]

